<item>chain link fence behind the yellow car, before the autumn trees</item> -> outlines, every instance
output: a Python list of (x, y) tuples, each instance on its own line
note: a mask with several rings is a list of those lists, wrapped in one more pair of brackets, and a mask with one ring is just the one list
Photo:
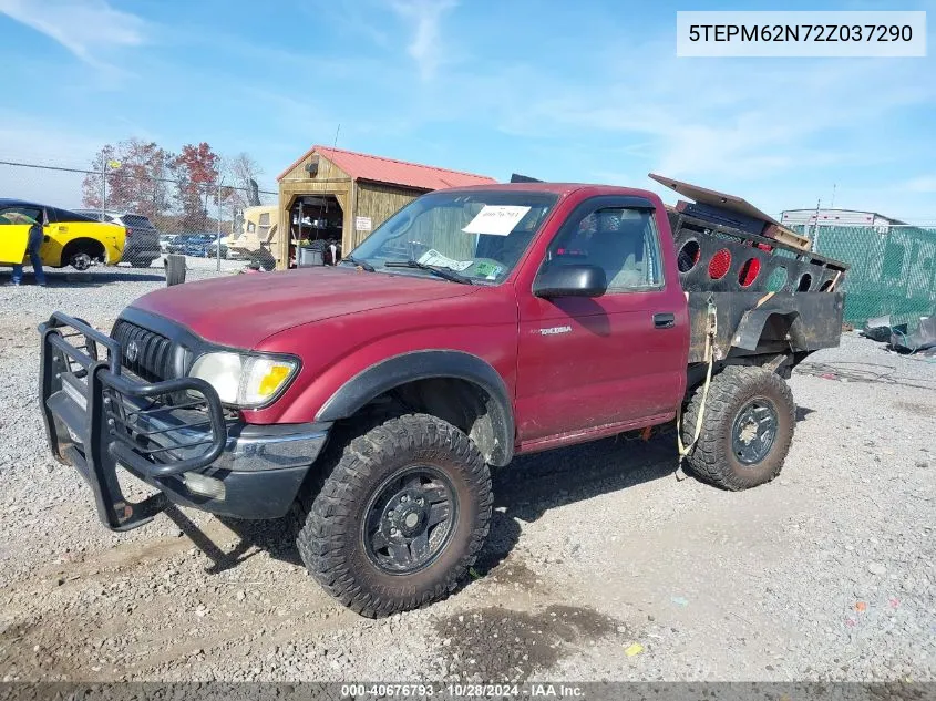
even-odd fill
[[(58, 165), (0, 161), (0, 198), (22, 199), (47, 207), (79, 212), (100, 220), (122, 224), (131, 230), (130, 256), (123, 262), (136, 265), (133, 250), (153, 250), (160, 256), (239, 259), (228, 248), (227, 237), (240, 234), (243, 212), (251, 206), (275, 206), (278, 193), (269, 187), (240, 186), (225, 176), (216, 182), (192, 183), (177, 177), (142, 177), (122, 168), (105, 173)], [(89, 196), (89, 194), (91, 194)], [(144, 218), (145, 217), (145, 218)], [(150, 229), (155, 227), (156, 233)], [(133, 237), (146, 238), (130, 246)], [(218, 240), (222, 244), (218, 247)], [(145, 260), (143, 260), (145, 265)], [(154, 260), (162, 265), (162, 260)]]

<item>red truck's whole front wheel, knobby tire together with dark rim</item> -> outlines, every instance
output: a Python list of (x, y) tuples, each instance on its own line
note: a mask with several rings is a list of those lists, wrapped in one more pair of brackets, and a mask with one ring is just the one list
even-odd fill
[(487, 536), (491, 475), (456, 427), (392, 419), (331, 451), (297, 537), (309, 573), (368, 617), (445, 598)]

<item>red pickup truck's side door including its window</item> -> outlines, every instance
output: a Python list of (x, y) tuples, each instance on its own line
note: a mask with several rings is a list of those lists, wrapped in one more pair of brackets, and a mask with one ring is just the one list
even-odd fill
[(660, 241), (654, 205), (639, 197), (593, 197), (559, 228), (541, 271), (596, 265), (608, 288), (595, 298), (518, 293), (522, 443), (673, 414), (689, 328), (679, 280), (665, 275), (675, 261), (664, 254), (673, 255), (672, 244)]

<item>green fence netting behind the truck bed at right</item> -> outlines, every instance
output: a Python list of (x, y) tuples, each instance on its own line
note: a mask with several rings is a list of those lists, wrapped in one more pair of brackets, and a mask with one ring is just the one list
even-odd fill
[(805, 234), (816, 252), (851, 266), (841, 288), (845, 321), (864, 326), (889, 315), (892, 323), (912, 323), (936, 315), (936, 228), (823, 226)]

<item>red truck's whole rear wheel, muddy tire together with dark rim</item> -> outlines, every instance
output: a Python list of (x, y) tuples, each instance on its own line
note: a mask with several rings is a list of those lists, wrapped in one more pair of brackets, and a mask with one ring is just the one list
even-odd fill
[[(701, 401), (699, 388), (683, 416), (683, 442), (692, 440)], [(780, 474), (793, 441), (795, 413), (790, 386), (776, 373), (758, 367), (726, 368), (712, 379), (688, 467), (726, 489), (770, 482)]]

